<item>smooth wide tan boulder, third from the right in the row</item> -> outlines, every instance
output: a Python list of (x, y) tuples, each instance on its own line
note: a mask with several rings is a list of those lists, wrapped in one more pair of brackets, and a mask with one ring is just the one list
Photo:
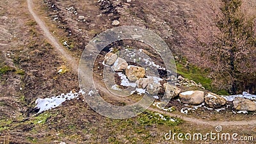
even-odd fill
[(204, 102), (204, 92), (188, 91), (180, 93), (180, 101), (184, 104), (201, 104)]

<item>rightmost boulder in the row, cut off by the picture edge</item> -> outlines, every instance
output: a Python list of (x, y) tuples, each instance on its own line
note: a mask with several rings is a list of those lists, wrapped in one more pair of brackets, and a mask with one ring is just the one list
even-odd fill
[(252, 100), (236, 97), (233, 101), (234, 108), (239, 111), (256, 111), (256, 104)]

